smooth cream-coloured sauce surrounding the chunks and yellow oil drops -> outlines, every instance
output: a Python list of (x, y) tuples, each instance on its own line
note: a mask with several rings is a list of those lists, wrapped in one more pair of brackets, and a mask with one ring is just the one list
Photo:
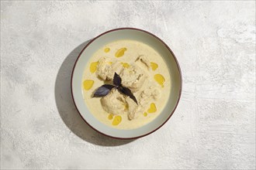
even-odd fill
[[(109, 48), (110, 51), (108, 53), (105, 52), (105, 49)], [(126, 51), (123, 56), (116, 57), (116, 51), (121, 48), (126, 48)], [(138, 56), (146, 56), (147, 59), (150, 62), (157, 63), (158, 67), (157, 70), (149, 70), (147, 73), (149, 75), (149, 79), (153, 82), (154, 75), (155, 74), (161, 74), (164, 76), (165, 82), (164, 87), (161, 87), (159, 84), (156, 83), (156, 86), (159, 86), (159, 89), (161, 90), (161, 97), (157, 100), (152, 100), (149, 102), (147, 109), (150, 107), (151, 103), (154, 103), (157, 107), (157, 111), (155, 113), (147, 113), (147, 116), (144, 116), (144, 112), (147, 112), (147, 109), (145, 109), (143, 112), (136, 113), (137, 116), (133, 120), (129, 120), (127, 114), (119, 114), (119, 116), (122, 117), (122, 121), (116, 125), (112, 125), (112, 121), (115, 116), (113, 116), (112, 120), (109, 120), (109, 114), (102, 108), (102, 104), (100, 102), (99, 98), (92, 98), (93, 92), (98, 88), (101, 87), (104, 82), (100, 80), (96, 73), (90, 72), (90, 64), (92, 62), (97, 62), (102, 56), (106, 56), (112, 59), (118, 59), (120, 62), (123, 63), (133, 63)], [(85, 104), (87, 105), (90, 112), (103, 124), (107, 124), (111, 126), (112, 128), (119, 128), (119, 129), (133, 129), (133, 128), (139, 128), (140, 126), (143, 126), (144, 124), (149, 123), (150, 121), (153, 121), (155, 117), (157, 117), (159, 114), (161, 114), (161, 110), (163, 110), (165, 104), (167, 103), (168, 97), (171, 92), (171, 81), (170, 81), (170, 73), (168, 71), (167, 65), (164, 63), (164, 59), (150, 46), (147, 46), (146, 44), (142, 42), (137, 42), (133, 40), (119, 40), (116, 42), (110, 42), (109, 44), (106, 44), (106, 46), (102, 46), (101, 49), (99, 49), (91, 59), (89, 59), (89, 62), (87, 66), (85, 66), (85, 71), (82, 77), (82, 82), (84, 80), (94, 80), (93, 86), (90, 90), (84, 90), (83, 84), (81, 84), (81, 88), (83, 91), (83, 97), (85, 100)]]

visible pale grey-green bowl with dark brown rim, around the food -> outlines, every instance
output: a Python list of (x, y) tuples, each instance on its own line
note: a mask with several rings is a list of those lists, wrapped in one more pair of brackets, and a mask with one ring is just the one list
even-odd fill
[[(111, 128), (106, 124), (102, 124), (100, 121), (98, 121), (88, 110), (81, 91), (82, 75), (90, 57), (99, 48), (106, 45), (107, 43), (122, 39), (131, 39), (143, 42), (148, 46), (151, 46), (164, 58), (168, 65), (169, 73), (171, 74), (171, 93), (170, 97), (168, 98), (168, 103), (161, 111), (161, 114), (159, 114), (150, 123), (145, 124), (140, 128), (130, 130)], [(154, 34), (142, 29), (134, 28), (112, 29), (95, 37), (95, 39), (92, 39), (92, 41), (89, 42), (84, 49), (82, 49), (78, 59), (74, 63), (71, 76), (71, 92), (78, 113), (91, 128), (95, 129), (95, 131), (99, 131), (99, 133), (105, 134), (112, 138), (140, 138), (161, 128), (161, 126), (164, 125), (175, 112), (182, 93), (182, 73), (175, 54), (172, 53), (171, 49), (166, 45), (166, 43), (164, 43), (157, 36), (154, 36)]]

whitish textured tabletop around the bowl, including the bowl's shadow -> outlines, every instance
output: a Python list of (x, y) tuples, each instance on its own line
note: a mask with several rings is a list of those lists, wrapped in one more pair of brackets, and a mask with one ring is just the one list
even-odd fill
[[(1, 168), (255, 168), (255, 2), (1, 2)], [(173, 49), (183, 93), (135, 141), (96, 133), (71, 100), (74, 59), (117, 27)]]

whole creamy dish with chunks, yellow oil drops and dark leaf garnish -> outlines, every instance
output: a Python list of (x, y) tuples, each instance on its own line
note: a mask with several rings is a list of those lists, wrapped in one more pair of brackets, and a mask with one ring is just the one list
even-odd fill
[(163, 57), (143, 42), (109, 42), (89, 59), (81, 89), (88, 110), (102, 124), (140, 128), (167, 104), (171, 77)]

